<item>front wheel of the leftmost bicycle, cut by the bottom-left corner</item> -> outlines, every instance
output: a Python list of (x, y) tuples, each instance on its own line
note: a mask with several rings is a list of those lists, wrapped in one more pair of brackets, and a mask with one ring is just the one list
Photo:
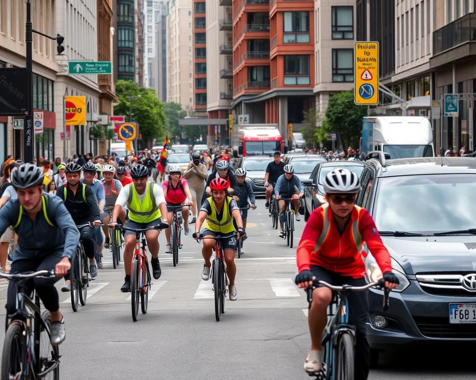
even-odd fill
[(23, 329), (16, 324), (11, 324), (6, 330), (1, 354), (1, 380), (21, 377), (22, 333)]

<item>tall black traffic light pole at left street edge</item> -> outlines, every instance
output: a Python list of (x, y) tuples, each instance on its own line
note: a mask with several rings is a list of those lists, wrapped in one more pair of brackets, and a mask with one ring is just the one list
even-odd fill
[(32, 58), (32, 30), (31, 23), (31, 2), (26, 1), (26, 68), (28, 70), (29, 92), (28, 92), (28, 113), (25, 115), (25, 126), (23, 136), (23, 161), (33, 162), (33, 58)]

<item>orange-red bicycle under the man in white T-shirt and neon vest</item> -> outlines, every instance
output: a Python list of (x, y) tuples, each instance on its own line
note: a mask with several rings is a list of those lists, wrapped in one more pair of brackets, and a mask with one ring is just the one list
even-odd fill
[(132, 311), (132, 320), (136, 322), (139, 316), (139, 298), (142, 314), (147, 314), (149, 288), (151, 285), (149, 261), (147, 259), (147, 252), (145, 250), (147, 247), (145, 232), (149, 230), (161, 230), (161, 228), (159, 226), (152, 226), (145, 229), (136, 229), (124, 226), (116, 226), (115, 229), (122, 231), (132, 231), (135, 233), (135, 249), (132, 256), (132, 265), (130, 270), (130, 305)]

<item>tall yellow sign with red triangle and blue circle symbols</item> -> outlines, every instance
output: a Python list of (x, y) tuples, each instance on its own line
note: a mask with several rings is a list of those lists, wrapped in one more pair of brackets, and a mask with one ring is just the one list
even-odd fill
[(354, 102), (378, 104), (378, 42), (357, 41), (354, 59)]

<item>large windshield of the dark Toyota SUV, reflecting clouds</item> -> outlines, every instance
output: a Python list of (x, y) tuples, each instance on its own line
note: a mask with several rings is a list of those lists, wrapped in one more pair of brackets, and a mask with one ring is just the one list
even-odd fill
[(476, 176), (447, 174), (379, 180), (375, 225), (380, 231), (435, 232), (476, 227)]

